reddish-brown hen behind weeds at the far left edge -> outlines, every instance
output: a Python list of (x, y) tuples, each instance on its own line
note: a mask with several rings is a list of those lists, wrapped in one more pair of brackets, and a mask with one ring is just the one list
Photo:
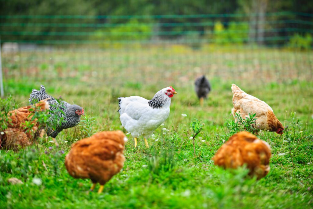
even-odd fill
[[(42, 130), (38, 130), (37, 119), (32, 120), (36, 111), (49, 109), (49, 99), (42, 100), (34, 105), (20, 107), (8, 112), (8, 128), (0, 135), (0, 143), (3, 148), (17, 150), (19, 146), (25, 147), (33, 143), (38, 136), (42, 137)], [(32, 128), (26, 128), (25, 122), (28, 121)]]

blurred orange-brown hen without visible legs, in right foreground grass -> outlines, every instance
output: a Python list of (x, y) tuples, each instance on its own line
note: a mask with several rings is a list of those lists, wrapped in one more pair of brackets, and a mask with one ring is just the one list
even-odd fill
[(251, 133), (234, 134), (213, 157), (214, 164), (223, 168), (238, 168), (247, 165), (249, 175), (258, 179), (269, 173), (270, 146)]

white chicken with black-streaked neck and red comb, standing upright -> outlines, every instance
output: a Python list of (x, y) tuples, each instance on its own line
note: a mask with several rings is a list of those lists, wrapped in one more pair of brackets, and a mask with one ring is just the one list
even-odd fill
[(147, 138), (168, 118), (174, 94), (177, 92), (169, 86), (156, 92), (151, 100), (138, 96), (118, 98), (122, 126), (134, 137), (135, 147), (137, 138), (143, 136), (149, 148)]

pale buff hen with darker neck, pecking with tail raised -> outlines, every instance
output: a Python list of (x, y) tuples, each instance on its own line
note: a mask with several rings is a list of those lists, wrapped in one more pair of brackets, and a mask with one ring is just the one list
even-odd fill
[(241, 118), (249, 118), (249, 113), (256, 113), (257, 118), (256, 128), (261, 130), (275, 131), (278, 134), (283, 134), (284, 126), (276, 118), (273, 110), (264, 101), (253, 97), (242, 91), (235, 84), (232, 85), (233, 92), (233, 109), (232, 114), (236, 120), (236, 113), (239, 113)]

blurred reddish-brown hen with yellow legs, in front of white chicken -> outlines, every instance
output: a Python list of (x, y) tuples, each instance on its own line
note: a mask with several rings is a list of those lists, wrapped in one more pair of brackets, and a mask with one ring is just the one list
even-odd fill
[(76, 142), (65, 157), (65, 166), (74, 178), (90, 179), (91, 191), (99, 182), (98, 193), (124, 165), (127, 138), (121, 131), (104, 131)]

